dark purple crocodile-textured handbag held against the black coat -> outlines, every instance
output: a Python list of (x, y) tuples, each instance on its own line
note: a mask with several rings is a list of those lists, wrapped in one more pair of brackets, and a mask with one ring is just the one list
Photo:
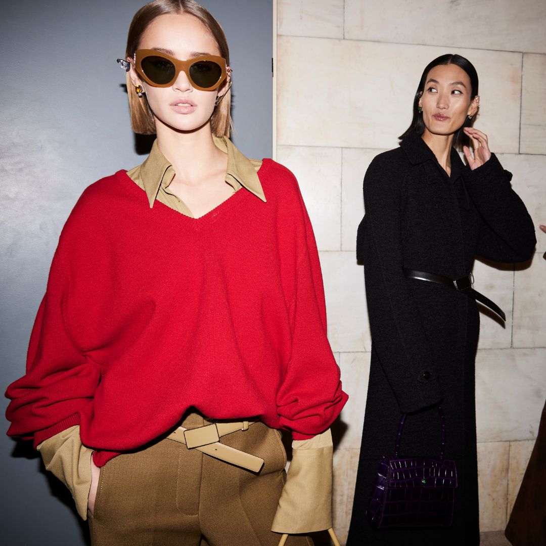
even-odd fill
[(400, 419), (394, 456), (383, 455), (377, 468), (366, 516), (373, 529), (391, 527), (449, 527), (453, 522), (457, 470), (455, 461), (444, 459), (446, 422), (438, 406), (442, 426), (439, 459), (400, 459), (400, 440), (407, 414)]

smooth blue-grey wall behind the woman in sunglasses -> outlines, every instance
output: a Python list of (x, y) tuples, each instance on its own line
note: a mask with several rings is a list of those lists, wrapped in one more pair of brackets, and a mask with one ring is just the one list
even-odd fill
[[(130, 129), (124, 73), (116, 63), (129, 22), (144, 3), (19, 0), (2, 5), (2, 389), (25, 372), (28, 336), (51, 257), (76, 199), (100, 177), (145, 158), (146, 142), (139, 143)], [(233, 140), (250, 157), (269, 157), (272, 2), (202, 3), (221, 23), (230, 45)], [(86, 527), (70, 495), (45, 474), (37, 454), (0, 434), (0, 456), (2, 543), (84, 544)]]

